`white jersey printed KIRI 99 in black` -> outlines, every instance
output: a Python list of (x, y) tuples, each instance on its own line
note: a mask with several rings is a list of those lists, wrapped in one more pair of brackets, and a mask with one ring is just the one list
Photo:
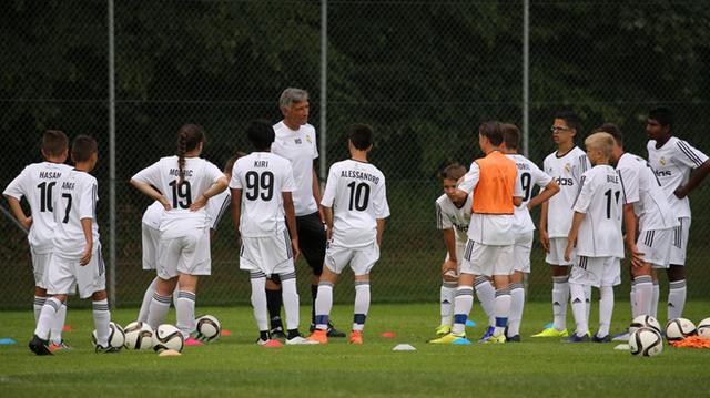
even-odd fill
[(242, 236), (283, 235), (286, 223), (282, 193), (296, 188), (291, 162), (270, 152), (240, 157), (232, 169), (230, 188), (242, 190)]

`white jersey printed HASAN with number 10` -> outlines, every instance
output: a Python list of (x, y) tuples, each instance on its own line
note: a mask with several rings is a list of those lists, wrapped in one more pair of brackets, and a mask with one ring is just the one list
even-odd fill
[(28, 241), (37, 254), (52, 251), (54, 237), (53, 197), (57, 181), (71, 170), (71, 166), (51, 162), (33, 163), (22, 170), (2, 193), (20, 201), (24, 196), (30, 204), (32, 226)]

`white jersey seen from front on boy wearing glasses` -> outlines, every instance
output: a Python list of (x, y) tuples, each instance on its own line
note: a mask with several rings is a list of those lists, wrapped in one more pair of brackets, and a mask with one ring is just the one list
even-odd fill
[(591, 164), (585, 151), (575, 146), (561, 155), (557, 152), (547, 155), (542, 169), (559, 185), (559, 192), (548, 201), (547, 234), (549, 237), (567, 237), (572, 225), (572, 204), (579, 192), (579, 180)]

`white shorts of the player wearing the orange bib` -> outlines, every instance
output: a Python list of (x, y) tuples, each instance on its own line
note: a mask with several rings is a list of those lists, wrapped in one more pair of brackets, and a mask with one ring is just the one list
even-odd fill
[(484, 245), (469, 239), (459, 273), (476, 276), (511, 275), (514, 259), (513, 245)]

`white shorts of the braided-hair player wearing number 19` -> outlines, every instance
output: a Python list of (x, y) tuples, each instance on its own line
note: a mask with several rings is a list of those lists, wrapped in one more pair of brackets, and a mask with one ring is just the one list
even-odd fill
[(210, 228), (194, 228), (183, 236), (166, 238), (161, 233), (158, 242), (158, 276), (174, 278), (180, 274), (210, 275)]

